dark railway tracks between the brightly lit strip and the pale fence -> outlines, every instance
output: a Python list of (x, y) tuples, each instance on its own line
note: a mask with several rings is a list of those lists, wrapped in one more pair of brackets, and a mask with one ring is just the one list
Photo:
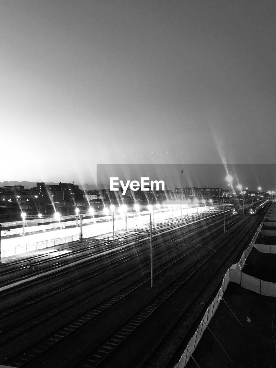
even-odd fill
[[(0, 268), (0, 364), (173, 368), (268, 212), (222, 210), (21, 254)], [(31, 268), (30, 263), (31, 261)]]

